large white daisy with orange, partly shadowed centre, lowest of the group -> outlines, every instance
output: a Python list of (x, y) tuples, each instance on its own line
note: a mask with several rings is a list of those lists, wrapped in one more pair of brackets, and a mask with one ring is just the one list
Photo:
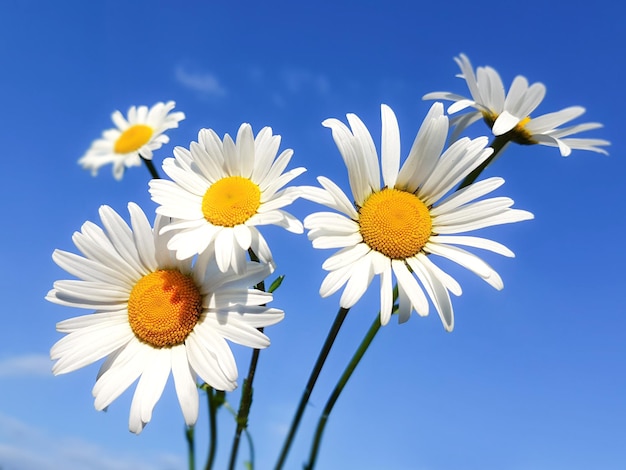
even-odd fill
[(54, 261), (78, 279), (54, 283), (46, 299), (94, 310), (57, 324), (65, 333), (51, 349), (54, 374), (106, 358), (93, 388), (103, 410), (139, 379), (129, 428), (139, 433), (152, 417), (170, 371), (187, 425), (198, 417), (196, 376), (218, 390), (233, 390), (237, 366), (226, 340), (265, 348), (257, 328), (277, 323), (281, 310), (263, 307), (271, 294), (248, 289), (270, 268), (250, 263), (242, 274), (222, 273), (208, 258), (177, 260), (142, 210), (128, 206), (130, 226), (113, 209), (100, 208), (104, 230), (86, 222), (73, 241), (82, 253), (56, 250)]

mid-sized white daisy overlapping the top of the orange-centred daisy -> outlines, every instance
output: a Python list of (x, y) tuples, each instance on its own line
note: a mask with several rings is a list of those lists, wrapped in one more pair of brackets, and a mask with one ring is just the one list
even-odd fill
[(222, 141), (211, 129), (198, 133), (189, 149), (176, 147), (174, 158), (163, 161), (163, 171), (173, 181), (150, 181), (157, 213), (174, 220), (165, 228), (173, 235), (168, 247), (178, 259), (205, 251), (215, 253), (222, 271), (240, 272), (246, 252), (272, 263), (272, 253), (257, 229), (278, 225), (302, 233), (302, 224), (282, 210), (298, 197), (298, 189), (282, 189), (305, 171), (283, 173), (293, 150), (277, 158), (280, 136), (261, 129), (256, 138), (249, 124), (242, 124), (236, 141), (226, 134)]

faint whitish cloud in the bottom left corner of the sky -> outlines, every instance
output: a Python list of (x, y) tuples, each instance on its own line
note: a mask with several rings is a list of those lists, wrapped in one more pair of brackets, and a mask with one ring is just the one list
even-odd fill
[(0, 463), (20, 470), (174, 470), (172, 454), (124, 455), (77, 437), (58, 436), (0, 414)]

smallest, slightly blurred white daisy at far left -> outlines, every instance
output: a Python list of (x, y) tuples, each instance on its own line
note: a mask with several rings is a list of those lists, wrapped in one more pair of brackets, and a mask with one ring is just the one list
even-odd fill
[(92, 175), (97, 175), (101, 166), (113, 164), (113, 176), (120, 180), (124, 169), (141, 165), (141, 158), (152, 160), (152, 152), (169, 142), (164, 134), (168, 129), (178, 127), (185, 119), (185, 113), (170, 113), (176, 104), (173, 101), (157, 103), (152, 108), (131, 106), (128, 116), (115, 111), (111, 115), (116, 129), (102, 133), (95, 140), (78, 163)]

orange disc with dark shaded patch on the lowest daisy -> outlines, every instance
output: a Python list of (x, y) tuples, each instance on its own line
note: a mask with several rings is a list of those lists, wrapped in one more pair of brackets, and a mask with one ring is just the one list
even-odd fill
[(181, 344), (202, 312), (202, 296), (191, 277), (160, 270), (142, 277), (130, 292), (128, 322), (135, 336), (155, 348)]

